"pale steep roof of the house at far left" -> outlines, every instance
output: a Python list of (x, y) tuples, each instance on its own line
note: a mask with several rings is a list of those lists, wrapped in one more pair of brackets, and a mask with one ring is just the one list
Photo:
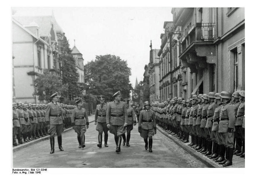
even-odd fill
[(49, 16), (13, 16), (15, 20), (22, 25), (29, 25), (31, 22), (36, 22), (39, 27), (39, 34), (43, 37), (48, 37), (51, 31), (51, 25), (54, 25), (56, 34), (63, 34), (59, 24), (56, 22), (54, 15)]

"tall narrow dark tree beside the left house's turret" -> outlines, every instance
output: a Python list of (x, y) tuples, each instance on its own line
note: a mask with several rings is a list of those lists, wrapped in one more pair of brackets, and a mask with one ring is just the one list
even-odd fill
[(59, 42), (59, 60), (62, 62), (62, 82), (66, 84), (67, 94), (69, 100), (73, 100), (74, 97), (80, 95), (78, 78), (79, 75), (76, 72), (76, 62), (71, 54), (68, 40), (63, 35), (63, 39)]

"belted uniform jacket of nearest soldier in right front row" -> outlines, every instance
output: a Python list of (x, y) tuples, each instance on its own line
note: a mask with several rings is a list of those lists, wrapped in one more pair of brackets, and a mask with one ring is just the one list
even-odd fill
[[(227, 133), (228, 128), (235, 126), (235, 108), (233, 105), (226, 102), (221, 106), (219, 114), (219, 133)], [(235, 130), (234, 130), (235, 131)]]

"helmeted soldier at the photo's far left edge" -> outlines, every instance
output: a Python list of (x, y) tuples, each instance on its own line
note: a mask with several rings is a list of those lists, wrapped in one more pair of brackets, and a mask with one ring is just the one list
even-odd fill
[[(18, 113), (16, 112), (16, 109), (17, 109), (17, 104), (13, 102), (13, 146), (18, 146), (22, 142), (20, 140), (20, 135), (19, 135), (20, 122), (19, 122), (19, 116), (18, 116)], [(19, 142), (18, 144), (16, 142), (15, 136), (18, 138), (18, 142)]]

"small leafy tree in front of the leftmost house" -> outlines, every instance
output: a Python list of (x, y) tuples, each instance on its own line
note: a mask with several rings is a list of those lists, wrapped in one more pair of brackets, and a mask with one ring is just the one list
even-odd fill
[(58, 92), (59, 95), (66, 94), (66, 85), (62, 83), (61, 78), (51, 74), (47, 69), (44, 70), (42, 76), (38, 76), (35, 81), (35, 92), (33, 95), (38, 95), (39, 100), (51, 101), (50, 96)]

